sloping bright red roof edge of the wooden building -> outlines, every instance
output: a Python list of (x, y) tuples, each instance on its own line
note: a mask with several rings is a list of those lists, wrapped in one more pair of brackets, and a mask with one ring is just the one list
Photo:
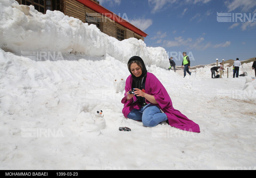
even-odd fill
[[(143, 36), (143, 37), (148, 36), (148, 34), (143, 32), (141, 29), (135, 27), (133, 24), (127, 22), (123, 18), (119, 17), (118, 15), (114, 14), (110, 10), (106, 9), (105, 7), (99, 5), (98, 3), (94, 2), (94, 1), (91, 1), (91, 0), (76, 0), (76, 1), (82, 3), (83, 5), (94, 10), (95, 12), (98, 12), (98, 13), (106, 16), (107, 18), (110, 18), (111, 20), (114, 20), (116, 23), (122, 25), (123, 27), (125, 27), (127, 29), (130, 29), (131, 31), (133, 31), (134, 33), (137, 33), (140, 36)], [(106, 14), (110, 14), (110, 13), (112, 14), (111, 16), (106, 15)]]

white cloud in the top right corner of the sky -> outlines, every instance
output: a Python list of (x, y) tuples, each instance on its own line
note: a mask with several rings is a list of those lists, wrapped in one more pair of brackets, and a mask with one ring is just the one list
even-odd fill
[(231, 12), (237, 8), (241, 8), (242, 11), (248, 11), (256, 6), (255, 0), (230, 0), (226, 1), (228, 12)]

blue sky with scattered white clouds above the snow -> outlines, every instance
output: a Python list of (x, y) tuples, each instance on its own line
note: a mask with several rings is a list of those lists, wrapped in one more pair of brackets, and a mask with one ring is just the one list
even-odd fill
[[(256, 57), (256, 22), (243, 18), (251, 15), (256, 20), (255, 0), (99, 1), (147, 33), (147, 46), (161, 46), (175, 60), (181, 60), (179, 53), (189, 53), (191, 66), (213, 63), (216, 58), (242, 61)], [(218, 22), (217, 12), (231, 13), (234, 22)], [(235, 18), (241, 15), (241, 20)]]

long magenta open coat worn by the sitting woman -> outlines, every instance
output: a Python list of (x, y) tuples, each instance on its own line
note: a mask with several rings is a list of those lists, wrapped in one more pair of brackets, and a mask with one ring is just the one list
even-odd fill
[[(125, 97), (122, 99), (123, 107), (123, 115), (127, 118), (127, 115), (133, 109), (140, 109), (141, 105), (137, 102), (134, 103), (137, 98), (136, 96), (133, 99), (127, 101), (127, 92), (130, 91), (131, 85), (133, 82), (133, 78), (131, 75), (126, 79), (125, 84)], [(185, 115), (181, 112), (173, 108), (173, 104), (171, 102), (171, 98), (167, 93), (165, 87), (162, 83), (155, 77), (152, 73), (147, 73), (146, 82), (145, 82), (145, 93), (149, 95), (153, 95), (158, 104), (153, 104), (158, 106), (162, 111), (167, 115), (170, 126), (176, 127), (182, 130), (190, 131), (190, 132), (200, 132), (199, 125), (195, 122), (189, 120)], [(146, 103), (150, 103), (145, 99)], [(132, 104), (133, 103), (133, 104)], [(130, 105), (131, 104), (131, 105)]]

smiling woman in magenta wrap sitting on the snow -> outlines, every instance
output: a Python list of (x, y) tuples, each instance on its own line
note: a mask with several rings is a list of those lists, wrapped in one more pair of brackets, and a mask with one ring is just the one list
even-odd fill
[[(140, 57), (130, 58), (128, 70), (131, 75), (126, 79), (126, 93), (122, 99), (124, 104), (122, 112), (126, 118), (142, 121), (143, 125), (148, 127), (167, 121), (170, 126), (190, 132), (200, 132), (198, 124), (173, 108), (165, 87), (154, 74), (147, 72)], [(134, 94), (129, 94), (132, 90), (135, 90)]]

